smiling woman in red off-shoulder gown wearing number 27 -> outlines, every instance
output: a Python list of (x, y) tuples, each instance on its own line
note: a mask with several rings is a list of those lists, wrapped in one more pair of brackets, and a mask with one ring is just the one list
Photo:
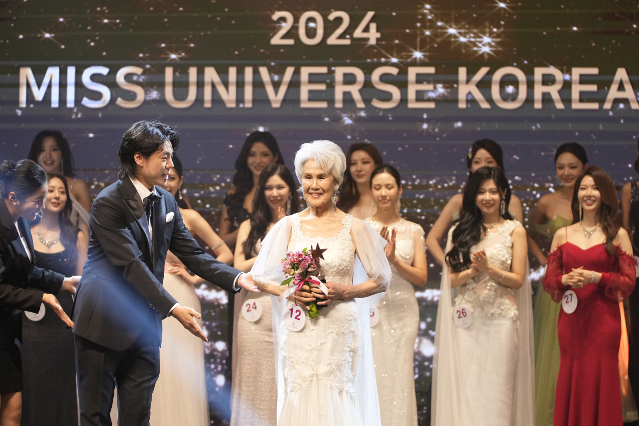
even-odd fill
[(557, 303), (568, 290), (574, 294), (566, 298), (577, 299), (574, 312), (559, 313), (553, 425), (622, 426), (619, 301), (635, 287), (635, 258), (617, 221), (619, 200), (608, 173), (592, 166), (574, 188), (576, 220), (555, 233), (543, 281)]

